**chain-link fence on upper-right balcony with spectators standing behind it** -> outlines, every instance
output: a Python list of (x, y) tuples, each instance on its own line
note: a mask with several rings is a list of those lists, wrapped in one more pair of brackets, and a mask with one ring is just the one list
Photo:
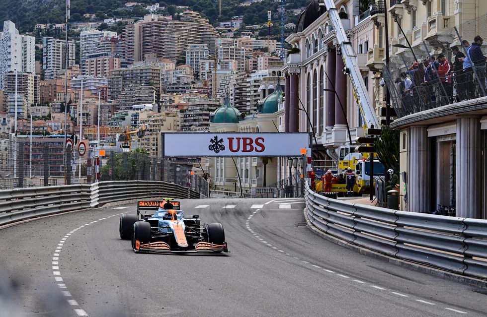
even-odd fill
[[(421, 36), (420, 32), (424, 30), (413, 30), (412, 38)], [(392, 55), (389, 64), (382, 69), (392, 106), (399, 118), (486, 96), (487, 48), (480, 46), (480, 50), (469, 49), (476, 36), (482, 39), (487, 37), (487, 14), (425, 41), (415, 42), (411, 49), (402, 37), (398, 44), (406, 48)], [(467, 41), (469, 45), (462, 45), (462, 41)], [(457, 57), (466, 58), (468, 65), (461, 59), (454, 63), (456, 52), (451, 49), (452, 43), (458, 48)], [(441, 65), (441, 54), (451, 62), (451, 68)]]

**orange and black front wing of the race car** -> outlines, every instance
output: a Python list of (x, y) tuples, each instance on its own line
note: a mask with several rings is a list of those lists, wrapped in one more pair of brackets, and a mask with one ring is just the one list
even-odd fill
[(136, 253), (220, 253), (229, 252), (227, 248), (227, 243), (224, 242), (223, 245), (217, 245), (209, 242), (198, 242), (194, 250), (193, 249), (177, 249), (171, 250), (171, 247), (165, 242), (151, 242), (146, 244), (141, 244), (139, 240), (135, 241)]

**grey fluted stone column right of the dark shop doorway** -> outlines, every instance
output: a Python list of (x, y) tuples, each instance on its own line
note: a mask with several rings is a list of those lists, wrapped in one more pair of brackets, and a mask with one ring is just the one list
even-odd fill
[(457, 118), (457, 217), (481, 218), (482, 134), (480, 118)]

